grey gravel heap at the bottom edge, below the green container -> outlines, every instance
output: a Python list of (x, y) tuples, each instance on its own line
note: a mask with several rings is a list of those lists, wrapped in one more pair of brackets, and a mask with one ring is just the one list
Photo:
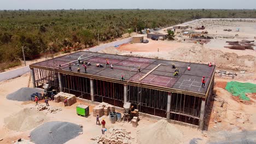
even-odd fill
[(47, 122), (31, 131), (30, 139), (37, 144), (62, 144), (78, 136), (82, 131), (83, 129), (74, 123)]

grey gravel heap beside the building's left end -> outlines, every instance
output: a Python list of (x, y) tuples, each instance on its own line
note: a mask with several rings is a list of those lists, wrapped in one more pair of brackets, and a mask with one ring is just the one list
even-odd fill
[(31, 94), (42, 92), (44, 92), (44, 90), (40, 88), (22, 87), (18, 91), (8, 94), (6, 98), (9, 100), (27, 101), (31, 100)]

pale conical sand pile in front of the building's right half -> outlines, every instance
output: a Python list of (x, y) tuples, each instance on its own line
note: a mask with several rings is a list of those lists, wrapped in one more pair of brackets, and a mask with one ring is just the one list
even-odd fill
[(161, 119), (157, 123), (140, 130), (138, 133), (138, 142), (141, 144), (181, 143), (182, 136), (182, 132), (174, 125)]

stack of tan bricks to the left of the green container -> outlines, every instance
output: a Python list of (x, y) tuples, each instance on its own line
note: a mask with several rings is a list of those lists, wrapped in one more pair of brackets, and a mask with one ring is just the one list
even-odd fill
[(74, 94), (63, 93), (63, 92), (60, 92), (54, 95), (54, 101), (56, 103), (59, 103), (60, 101), (64, 102), (66, 97), (67, 97), (67, 106), (71, 106), (74, 103), (77, 103), (77, 99), (75, 98)]

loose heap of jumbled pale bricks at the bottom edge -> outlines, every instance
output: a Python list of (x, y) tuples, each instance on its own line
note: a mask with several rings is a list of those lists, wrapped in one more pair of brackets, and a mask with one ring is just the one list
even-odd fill
[(130, 132), (127, 132), (123, 128), (110, 128), (105, 135), (97, 136), (91, 140), (96, 140), (99, 144), (130, 144), (131, 139)]

